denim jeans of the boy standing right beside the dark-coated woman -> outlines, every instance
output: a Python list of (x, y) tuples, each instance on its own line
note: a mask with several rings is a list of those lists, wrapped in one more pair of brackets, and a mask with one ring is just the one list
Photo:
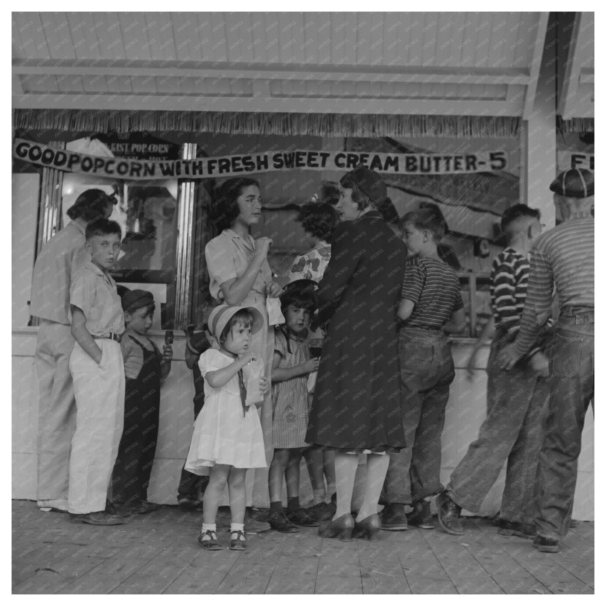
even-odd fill
[(411, 504), (443, 490), (442, 430), (454, 381), (450, 343), (441, 330), (401, 328), (398, 342), (407, 448), (390, 456), (382, 504)]

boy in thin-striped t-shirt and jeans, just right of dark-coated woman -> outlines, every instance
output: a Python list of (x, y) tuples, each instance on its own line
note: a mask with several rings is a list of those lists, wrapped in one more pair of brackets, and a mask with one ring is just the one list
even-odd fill
[[(404, 215), (402, 222), (410, 258), (398, 309), (398, 341), (408, 448), (390, 456), (381, 501), (385, 530), (405, 530), (408, 523), (433, 528), (430, 499), (442, 490), (441, 437), (454, 380), (445, 332), (465, 329), (459, 279), (438, 255), (444, 218), (432, 208), (422, 208)], [(405, 504), (413, 507), (408, 519)]]

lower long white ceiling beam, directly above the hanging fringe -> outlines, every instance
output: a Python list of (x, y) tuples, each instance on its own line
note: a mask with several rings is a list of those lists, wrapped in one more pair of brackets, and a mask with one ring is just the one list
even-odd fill
[(522, 100), (322, 98), (202, 95), (108, 95), (27, 93), (13, 96), (13, 108), (86, 110), (159, 110), (184, 112), (309, 112), (457, 116), (519, 116)]

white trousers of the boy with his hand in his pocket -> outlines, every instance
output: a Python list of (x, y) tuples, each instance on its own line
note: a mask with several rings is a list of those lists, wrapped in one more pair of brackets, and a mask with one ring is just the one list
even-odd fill
[(111, 339), (95, 342), (103, 352), (101, 364), (78, 343), (70, 357), (76, 396), (68, 491), (70, 513), (105, 509), (124, 425), (124, 362), (120, 345)]

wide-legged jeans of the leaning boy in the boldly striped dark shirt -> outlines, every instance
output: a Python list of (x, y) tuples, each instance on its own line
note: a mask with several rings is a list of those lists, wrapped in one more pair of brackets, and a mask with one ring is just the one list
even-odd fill
[(497, 331), (487, 365), (487, 416), (478, 439), (451, 474), (447, 491), (457, 505), (477, 513), (507, 461), (501, 518), (534, 524), (534, 482), (549, 389), (524, 360), (501, 370), (498, 357), (505, 344), (504, 333)]

